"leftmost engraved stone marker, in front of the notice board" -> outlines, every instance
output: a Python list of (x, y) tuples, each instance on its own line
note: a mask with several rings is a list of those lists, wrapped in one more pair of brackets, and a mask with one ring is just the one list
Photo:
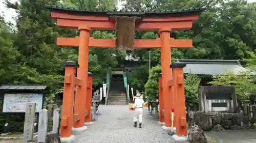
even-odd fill
[(35, 123), (35, 107), (36, 107), (36, 103), (28, 103), (26, 105), (24, 132), (23, 132), (24, 143), (33, 139), (34, 123)]

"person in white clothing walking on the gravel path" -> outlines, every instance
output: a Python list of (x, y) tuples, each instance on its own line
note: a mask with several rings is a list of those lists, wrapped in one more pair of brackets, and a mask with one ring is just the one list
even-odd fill
[(144, 100), (139, 92), (136, 94), (134, 98), (135, 98), (134, 105), (133, 105), (133, 108), (135, 109), (135, 113), (133, 117), (134, 127), (135, 128), (137, 127), (137, 122), (139, 120), (139, 128), (141, 128)]

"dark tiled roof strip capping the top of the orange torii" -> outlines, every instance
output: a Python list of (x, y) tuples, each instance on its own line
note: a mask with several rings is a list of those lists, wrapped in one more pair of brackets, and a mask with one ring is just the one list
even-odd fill
[(66, 12), (77, 12), (83, 14), (105, 14), (105, 15), (152, 15), (152, 14), (176, 14), (176, 13), (193, 13), (202, 12), (204, 8), (190, 8), (182, 10), (165, 10), (165, 11), (117, 11), (117, 10), (83, 10), (74, 8), (64, 8), (60, 6), (46, 5), (50, 10), (59, 10)]

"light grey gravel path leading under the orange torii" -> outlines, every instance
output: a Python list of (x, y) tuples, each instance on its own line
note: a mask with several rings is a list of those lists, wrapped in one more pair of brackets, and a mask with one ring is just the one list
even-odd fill
[(85, 132), (76, 134), (75, 143), (176, 142), (163, 133), (156, 119), (147, 115), (147, 108), (144, 108), (142, 129), (133, 127), (133, 111), (127, 105), (100, 105), (99, 111), (97, 121)]

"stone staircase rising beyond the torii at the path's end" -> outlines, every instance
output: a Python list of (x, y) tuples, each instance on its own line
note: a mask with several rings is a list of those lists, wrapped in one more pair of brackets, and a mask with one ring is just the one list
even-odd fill
[(111, 79), (108, 105), (127, 105), (125, 88), (123, 81)]

